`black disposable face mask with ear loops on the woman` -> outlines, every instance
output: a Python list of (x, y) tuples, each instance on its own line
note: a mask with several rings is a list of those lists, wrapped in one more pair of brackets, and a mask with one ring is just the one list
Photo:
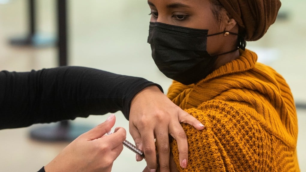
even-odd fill
[(224, 32), (207, 33), (208, 30), (204, 29), (150, 22), (148, 43), (151, 44), (152, 57), (159, 70), (168, 78), (189, 85), (209, 75), (219, 55), (238, 49), (211, 56), (206, 50), (207, 37)]

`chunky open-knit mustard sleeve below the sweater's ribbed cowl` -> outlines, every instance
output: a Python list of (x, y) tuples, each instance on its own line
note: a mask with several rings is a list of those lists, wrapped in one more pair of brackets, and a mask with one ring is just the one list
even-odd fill
[[(201, 171), (217, 167), (220, 167), (218, 171), (256, 171), (258, 168), (269, 171), (271, 166), (275, 169), (283, 167), (282, 163), (288, 159), (293, 166), (297, 165), (296, 155), (293, 154), (296, 141), (291, 137), (288, 143), (289, 136), (282, 137), (281, 132), (271, 132), (256, 118), (256, 115), (259, 118), (263, 116), (260, 117), (256, 111), (245, 110), (248, 104), (240, 105), (239, 102), (211, 100), (197, 108), (186, 109), (205, 126), (203, 130), (196, 130), (182, 123), (188, 138), (188, 152), (192, 155), (188, 166), (203, 167)], [(178, 161), (176, 142), (172, 142), (171, 146)], [(275, 158), (278, 156), (283, 158)]]

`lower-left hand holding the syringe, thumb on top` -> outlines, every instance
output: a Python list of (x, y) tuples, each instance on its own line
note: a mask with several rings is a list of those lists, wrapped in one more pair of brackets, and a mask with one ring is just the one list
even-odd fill
[(115, 121), (116, 117), (112, 114), (104, 123), (77, 137), (45, 166), (45, 171), (111, 171), (126, 138), (126, 131), (122, 127), (117, 127), (115, 133), (109, 136), (105, 135)]

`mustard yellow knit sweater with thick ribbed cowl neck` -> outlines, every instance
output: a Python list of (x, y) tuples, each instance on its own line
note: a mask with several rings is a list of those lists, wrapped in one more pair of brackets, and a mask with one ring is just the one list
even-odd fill
[(297, 160), (297, 115), (285, 80), (256, 63), (257, 55), (240, 57), (200, 82), (174, 81), (168, 97), (200, 120), (196, 130), (182, 124), (188, 138), (188, 168), (180, 171), (300, 171)]

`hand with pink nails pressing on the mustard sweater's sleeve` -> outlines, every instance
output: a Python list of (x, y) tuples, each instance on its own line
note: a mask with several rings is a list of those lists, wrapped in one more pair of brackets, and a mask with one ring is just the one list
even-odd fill
[[(188, 144), (180, 123), (188, 123), (198, 130), (204, 128), (193, 116), (175, 105), (157, 86), (148, 86), (135, 95), (131, 102), (129, 131), (138, 148), (144, 151), (147, 167), (157, 167), (155, 138), (159, 152), (160, 171), (169, 170), (169, 134), (177, 140), (180, 165), (187, 167)], [(142, 158), (136, 155), (136, 160)]]

